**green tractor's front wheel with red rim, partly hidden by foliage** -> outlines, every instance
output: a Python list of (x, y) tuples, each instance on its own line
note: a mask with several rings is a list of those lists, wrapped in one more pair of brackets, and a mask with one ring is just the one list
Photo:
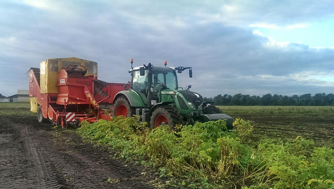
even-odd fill
[(177, 109), (171, 106), (161, 106), (153, 111), (150, 128), (157, 128), (162, 122), (169, 126), (169, 131), (173, 131), (176, 125), (183, 124), (183, 117)]

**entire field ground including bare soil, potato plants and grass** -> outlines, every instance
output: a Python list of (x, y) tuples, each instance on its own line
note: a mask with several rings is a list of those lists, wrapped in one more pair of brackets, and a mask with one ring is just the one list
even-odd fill
[(0, 104), (0, 187), (333, 187), (332, 107), (219, 108), (251, 122), (227, 133), (217, 122), (174, 135), (135, 119), (62, 131), (39, 124), (29, 104)]

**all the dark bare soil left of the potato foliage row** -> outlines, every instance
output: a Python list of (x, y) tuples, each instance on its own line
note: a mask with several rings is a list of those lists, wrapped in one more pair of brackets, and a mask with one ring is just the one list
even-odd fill
[(0, 115), (0, 188), (153, 188), (156, 174), (51, 127)]

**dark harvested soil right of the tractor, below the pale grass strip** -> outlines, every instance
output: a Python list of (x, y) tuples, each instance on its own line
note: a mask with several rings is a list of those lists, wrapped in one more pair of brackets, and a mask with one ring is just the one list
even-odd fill
[(334, 148), (334, 116), (331, 114), (235, 114), (234, 118), (253, 121), (254, 135), (277, 139), (302, 136), (316, 146)]

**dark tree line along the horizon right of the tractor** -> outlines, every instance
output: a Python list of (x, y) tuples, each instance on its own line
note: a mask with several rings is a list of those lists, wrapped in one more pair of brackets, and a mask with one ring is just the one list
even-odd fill
[(217, 95), (206, 98), (204, 101), (213, 101), (217, 106), (334, 106), (334, 94), (329, 93), (310, 93), (304, 95), (263, 95), (250, 96), (238, 93), (231, 95)]

